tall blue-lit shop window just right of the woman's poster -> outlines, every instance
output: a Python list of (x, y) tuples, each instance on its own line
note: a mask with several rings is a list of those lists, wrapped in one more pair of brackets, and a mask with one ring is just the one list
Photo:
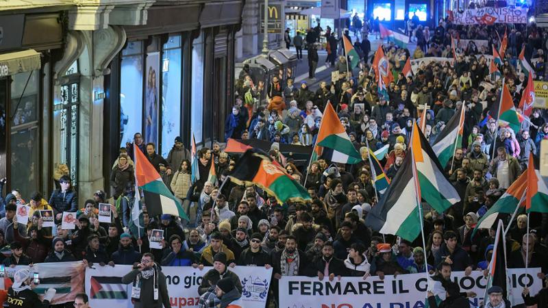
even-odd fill
[[(181, 36), (170, 36), (162, 55), (162, 156), (181, 131)], [(172, 166), (178, 168), (179, 166)]]

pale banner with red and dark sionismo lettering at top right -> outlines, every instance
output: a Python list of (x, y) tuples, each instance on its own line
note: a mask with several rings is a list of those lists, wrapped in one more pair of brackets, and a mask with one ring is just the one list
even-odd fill
[(495, 23), (527, 23), (526, 8), (478, 8), (453, 12), (456, 25), (493, 25)]

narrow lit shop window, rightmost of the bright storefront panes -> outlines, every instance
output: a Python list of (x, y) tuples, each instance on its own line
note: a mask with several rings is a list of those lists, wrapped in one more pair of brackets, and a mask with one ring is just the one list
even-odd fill
[(203, 131), (203, 34), (192, 44), (192, 105), (190, 106), (190, 125), (196, 142), (202, 142)]

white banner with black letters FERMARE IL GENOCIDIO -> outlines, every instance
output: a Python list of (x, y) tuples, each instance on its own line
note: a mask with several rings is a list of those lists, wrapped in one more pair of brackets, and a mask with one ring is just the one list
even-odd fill
[[(512, 286), (512, 303), (523, 303), (521, 292), (525, 284), (530, 285), (532, 295), (542, 288), (542, 280), (536, 277), (540, 268), (509, 269)], [(464, 272), (453, 272), (453, 281), (461, 292), (475, 292), (476, 298), (469, 298), (471, 307), (478, 307), (483, 300), (487, 279), (482, 272), (474, 271), (470, 276)], [(282, 277), (279, 281), (279, 307), (424, 307), (427, 279), (425, 274), (401, 274), (394, 278), (343, 277), (323, 279), (318, 277)], [(282, 296), (283, 294), (283, 296)]]

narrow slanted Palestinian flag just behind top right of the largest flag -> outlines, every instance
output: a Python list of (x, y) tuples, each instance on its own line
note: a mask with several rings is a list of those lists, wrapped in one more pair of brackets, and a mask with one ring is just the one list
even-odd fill
[[(455, 149), (462, 147), (462, 132), (464, 129), (464, 109), (455, 112), (443, 131), (432, 145), (432, 151), (438, 157), (440, 165), (445, 167), (449, 159), (453, 157)], [(443, 169), (442, 169), (443, 170)]]

